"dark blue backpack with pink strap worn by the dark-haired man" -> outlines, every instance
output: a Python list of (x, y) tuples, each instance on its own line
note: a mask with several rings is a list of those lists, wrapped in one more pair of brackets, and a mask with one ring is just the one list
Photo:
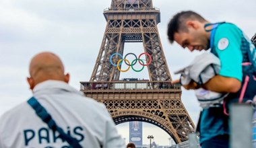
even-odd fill
[[(217, 27), (218, 26), (212, 30), (213, 34), (215, 34)], [(211, 37), (213, 41), (212, 38), (214, 37)], [(241, 42), (241, 52), (243, 54), (243, 81), (241, 82), (242, 85), (239, 91), (230, 93), (224, 98), (223, 107), (224, 114), (226, 115), (229, 115), (228, 110), (233, 103), (251, 103), (255, 106), (256, 102), (256, 49), (255, 45), (252, 44), (252, 42), (256, 44), (256, 34), (251, 40), (245, 38), (244, 35)], [(211, 48), (211, 52), (218, 57), (214, 48)]]

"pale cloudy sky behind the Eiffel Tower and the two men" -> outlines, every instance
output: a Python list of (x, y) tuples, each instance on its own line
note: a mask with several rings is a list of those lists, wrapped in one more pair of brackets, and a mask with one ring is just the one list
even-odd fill
[[(26, 82), (30, 59), (38, 52), (51, 51), (58, 54), (70, 73), (69, 84), (80, 88), (80, 81), (89, 81), (100, 50), (106, 20), (103, 10), (110, 7), (110, 0), (0, 0), (0, 116), (17, 104), (26, 101), (32, 92)], [(173, 72), (188, 65), (199, 52), (183, 50), (170, 44), (166, 26), (170, 17), (179, 11), (193, 10), (210, 22), (232, 22), (240, 27), (249, 38), (256, 32), (255, 0), (153, 0), (160, 9), (161, 22), (158, 31), (162, 48), (173, 79)], [(125, 46), (139, 53), (141, 44)], [(129, 49), (130, 48), (130, 49)], [(126, 52), (126, 51), (125, 51)], [(121, 74), (131, 77), (132, 71)], [(144, 71), (138, 78), (148, 77)], [(181, 100), (196, 124), (199, 104), (193, 91), (183, 89)], [(1, 121), (0, 121), (1, 122)], [(154, 133), (154, 140), (168, 145), (168, 135), (160, 128), (144, 124), (147, 136)], [(128, 139), (126, 124), (117, 126), (119, 133)], [(146, 130), (149, 129), (149, 130)], [(146, 136), (145, 136), (146, 137)], [(149, 143), (148, 139), (143, 139)], [(144, 142), (143, 142), (144, 143)]]

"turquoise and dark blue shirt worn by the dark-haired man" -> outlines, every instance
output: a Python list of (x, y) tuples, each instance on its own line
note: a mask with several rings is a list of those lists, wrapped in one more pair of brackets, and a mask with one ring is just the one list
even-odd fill
[[(211, 35), (214, 37), (212, 50), (216, 52), (221, 63), (219, 75), (242, 81), (243, 32), (234, 24), (220, 24), (217, 27), (215, 34)], [(203, 109), (200, 120), (200, 143), (228, 133), (228, 116), (224, 115), (223, 108)]]

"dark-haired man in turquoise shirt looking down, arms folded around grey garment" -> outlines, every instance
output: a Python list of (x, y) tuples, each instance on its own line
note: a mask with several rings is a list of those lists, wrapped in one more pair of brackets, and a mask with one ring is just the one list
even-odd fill
[[(183, 85), (185, 89), (203, 87), (210, 91), (230, 93), (225, 98), (228, 105), (234, 100), (245, 102), (256, 95), (255, 81), (242, 91), (246, 75), (251, 71), (249, 79), (255, 75), (255, 47), (243, 32), (234, 24), (225, 22), (211, 24), (201, 15), (193, 11), (182, 11), (172, 17), (168, 24), (168, 40), (177, 42), (183, 48), (193, 50), (208, 50), (211, 48), (221, 63), (220, 73), (203, 85), (191, 81)], [(250, 55), (250, 56), (248, 56)], [(251, 62), (251, 63), (250, 63)], [(244, 65), (247, 63), (247, 66)], [(174, 80), (177, 83), (179, 80)], [(254, 85), (251, 87), (251, 85)], [(243, 95), (241, 95), (243, 94)], [(246, 98), (243, 100), (243, 98)], [(225, 102), (225, 101), (224, 101)], [(228, 147), (228, 106), (203, 109), (200, 115), (199, 132), (202, 148)]]

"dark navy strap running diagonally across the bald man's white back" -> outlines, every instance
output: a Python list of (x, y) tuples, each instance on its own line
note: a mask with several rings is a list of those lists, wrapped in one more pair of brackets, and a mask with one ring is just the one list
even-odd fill
[(53, 131), (59, 132), (61, 139), (67, 141), (67, 143), (69, 143), (69, 145), (71, 145), (73, 148), (82, 148), (77, 139), (67, 135), (63, 129), (56, 124), (55, 120), (53, 120), (51, 117), (51, 114), (46, 111), (46, 109), (36, 100), (36, 98), (32, 97), (27, 102), (35, 110), (36, 114), (42, 119), (42, 121), (49, 126), (49, 128), (51, 128)]

